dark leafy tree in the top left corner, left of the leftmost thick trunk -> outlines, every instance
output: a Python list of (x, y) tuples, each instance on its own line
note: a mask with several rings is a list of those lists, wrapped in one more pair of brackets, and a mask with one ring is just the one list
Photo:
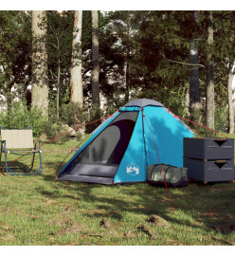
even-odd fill
[[(17, 96), (26, 99), (31, 74), (31, 16), (26, 11), (0, 11), (0, 94), (10, 107)], [(14, 89), (14, 92), (12, 92)]]

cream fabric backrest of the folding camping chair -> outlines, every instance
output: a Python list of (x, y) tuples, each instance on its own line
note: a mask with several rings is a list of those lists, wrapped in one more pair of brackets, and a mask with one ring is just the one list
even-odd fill
[(3, 130), (1, 129), (1, 139), (6, 140), (8, 149), (33, 148), (32, 129), (28, 130)]

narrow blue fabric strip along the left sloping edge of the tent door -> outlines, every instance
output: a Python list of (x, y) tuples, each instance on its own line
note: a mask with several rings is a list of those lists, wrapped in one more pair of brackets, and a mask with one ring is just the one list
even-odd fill
[[(78, 156), (81, 154), (81, 152), (83, 151), (84, 148), (86, 148), (86, 146), (88, 146), (96, 137), (99, 136), (99, 134), (102, 132), (102, 130), (104, 130), (104, 128), (106, 128), (111, 121), (113, 121), (114, 119), (116, 119), (118, 117), (120, 113), (118, 112), (116, 115), (114, 115), (114, 117), (112, 119), (109, 119), (108, 121), (105, 121), (103, 123), (103, 125), (100, 125), (99, 129), (95, 131), (95, 133), (89, 137), (85, 143), (81, 146), (81, 148), (76, 152), (75, 155), (72, 156), (72, 158), (63, 166), (63, 169), (61, 170), (60, 174), (63, 174), (63, 172), (66, 170), (66, 168), (68, 167), (68, 165)], [(59, 174), (59, 175), (60, 175)]]

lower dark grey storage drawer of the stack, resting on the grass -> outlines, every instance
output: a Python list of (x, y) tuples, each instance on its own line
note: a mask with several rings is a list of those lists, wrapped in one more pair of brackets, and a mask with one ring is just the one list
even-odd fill
[(189, 177), (203, 182), (232, 181), (234, 179), (233, 160), (198, 160), (184, 158), (184, 167)]

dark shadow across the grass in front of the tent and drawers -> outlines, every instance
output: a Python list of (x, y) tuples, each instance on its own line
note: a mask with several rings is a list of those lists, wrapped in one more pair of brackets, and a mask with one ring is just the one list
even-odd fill
[[(50, 170), (50, 172), (42, 174), (46, 182), (55, 182), (56, 170), (60, 164), (61, 162), (46, 163), (47, 169)], [(235, 211), (234, 183), (204, 185), (196, 182), (190, 184), (189, 187), (170, 188), (175, 214), (171, 213), (168, 194), (162, 186), (149, 184), (114, 185), (115, 192), (110, 195), (102, 192), (102, 188), (111, 187), (107, 185), (56, 181), (56, 186), (59, 190), (69, 190), (70, 194), (60, 195), (41, 189), (38, 192), (41, 192), (45, 197), (85, 201), (87, 204), (94, 206), (94, 210), (82, 211), (88, 217), (111, 217), (121, 221), (128, 212), (148, 216), (157, 214), (172, 224), (200, 228), (206, 231), (214, 229), (219, 232), (230, 233), (235, 229), (232, 224), (232, 218), (235, 219), (235, 214), (232, 213)], [(94, 194), (94, 190), (97, 188), (101, 189), (100, 193)], [(122, 199), (123, 195), (125, 199)], [(135, 197), (135, 200), (133, 200), (133, 197)], [(193, 221), (186, 221), (181, 218), (176, 213), (178, 210), (182, 212), (182, 215), (189, 216), (189, 219), (193, 219)], [(229, 213), (231, 219), (227, 218)]]

